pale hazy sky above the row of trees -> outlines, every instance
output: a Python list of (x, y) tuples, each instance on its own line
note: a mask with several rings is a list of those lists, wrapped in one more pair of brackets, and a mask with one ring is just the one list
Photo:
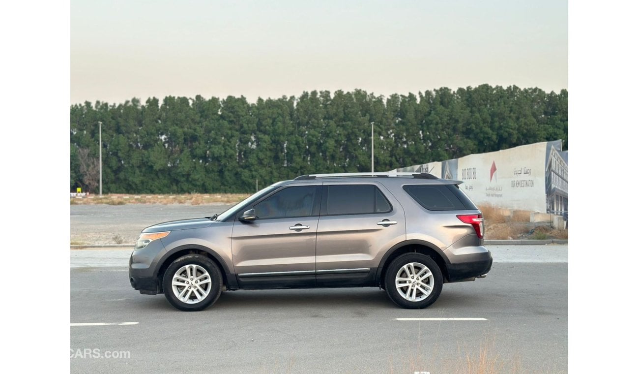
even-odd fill
[(568, 86), (564, 0), (71, 3), (71, 103)]

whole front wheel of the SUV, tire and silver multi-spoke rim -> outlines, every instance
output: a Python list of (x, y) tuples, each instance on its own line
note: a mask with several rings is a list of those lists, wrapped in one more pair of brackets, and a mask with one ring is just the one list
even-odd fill
[(222, 273), (206, 256), (187, 254), (167, 267), (162, 280), (164, 295), (175, 308), (201, 311), (222, 293)]

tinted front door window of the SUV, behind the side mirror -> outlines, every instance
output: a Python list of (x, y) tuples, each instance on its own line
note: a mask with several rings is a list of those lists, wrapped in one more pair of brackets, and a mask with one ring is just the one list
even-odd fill
[(258, 219), (309, 217), (312, 215), (317, 187), (288, 187), (275, 192), (254, 206)]

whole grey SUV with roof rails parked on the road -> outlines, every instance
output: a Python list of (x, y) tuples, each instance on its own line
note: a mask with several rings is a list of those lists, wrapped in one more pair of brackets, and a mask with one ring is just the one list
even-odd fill
[(443, 283), (484, 277), (481, 212), (461, 182), (426, 173), (303, 175), (213, 217), (145, 228), (129, 278), (199, 311), (226, 290), (380, 287), (426, 308)]

